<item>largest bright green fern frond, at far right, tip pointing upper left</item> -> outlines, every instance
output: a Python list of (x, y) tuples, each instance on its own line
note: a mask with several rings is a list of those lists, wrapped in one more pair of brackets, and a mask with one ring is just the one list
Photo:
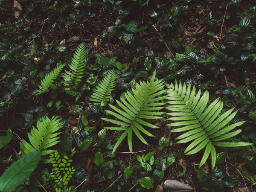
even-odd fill
[(230, 109), (218, 117), (223, 108), (223, 102), (218, 98), (207, 107), (209, 100), (208, 91), (204, 92), (201, 96), (201, 90), (196, 94), (195, 86), (193, 86), (191, 90), (190, 84), (186, 87), (185, 83), (182, 86), (180, 82), (179, 85), (177, 83), (170, 85), (167, 90), (166, 99), (169, 100), (166, 102), (166, 109), (172, 111), (171, 113), (166, 113), (171, 116), (167, 120), (174, 121), (168, 125), (178, 127), (171, 132), (187, 131), (185, 134), (176, 138), (179, 140), (177, 143), (192, 141), (185, 149), (184, 154), (195, 154), (206, 147), (200, 167), (206, 162), (211, 153), (212, 169), (214, 168), (216, 162), (216, 150), (214, 145), (221, 147), (253, 145), (253, 143), (242, 142), (217, 142), (239, 134), (241, 129), (236, 131), (232, 130), (242, 125), (245, 121), (226, 126), (236, 116), (237, 111), (232, 112), (233, 109)]

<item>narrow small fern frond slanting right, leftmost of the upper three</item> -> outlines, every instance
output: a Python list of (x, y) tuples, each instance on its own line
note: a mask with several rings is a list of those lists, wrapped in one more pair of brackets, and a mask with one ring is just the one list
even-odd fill
[(38, 85), (40, 90), (36, 91), (37, 92), (36, 95), (40, 95), (44, 93), (50, 87), (50, 85), (54, 82), (54, 80), (58, 77), (58, 75), (61, 73), (64, 67), (65, 67), (65, 64), (59, 64), (52, 71), (47, 73), (44, 79), (41, 80), (41, 85)]

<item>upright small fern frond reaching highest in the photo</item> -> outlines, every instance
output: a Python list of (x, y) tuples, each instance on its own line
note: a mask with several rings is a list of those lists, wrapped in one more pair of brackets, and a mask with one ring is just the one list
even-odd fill
[(66, 74), (62, 76), (65, 84), (74, 84), (81, 81), (81, 78), (84, 76), (87, 54), (88, 49), (85, 49), (85, 44), (79, 44), (73, 54), (71, 63), (68, 64), (72, 72), (65, 70)]

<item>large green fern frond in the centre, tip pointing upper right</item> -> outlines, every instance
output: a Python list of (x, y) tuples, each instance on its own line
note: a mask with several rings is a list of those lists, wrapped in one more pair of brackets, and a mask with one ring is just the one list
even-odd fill
[(132, 152), (132, 134), (134, 133), (144, 144), (148, 145), (146, 140), (141, 135), (141, 132), (150, 137), (154, 137), (153, 134), (148, 132), (144, 126), (150, 128), (158, 128), (151, 123), (146, 122), (143, 119), (160, 119), (164, 112), (155, 112), (161, 110), (165, 103), (160, 102), (164, 98), (162, 94), (165, 92), (163, 87), (163, 79), (154, 81), (155, 72), (151, 78), (150, 82), (141, 82), (136, 84), (136, 90), (132, 89), (131, 93), (125, 93), (125, 99), (121, 99), (122, 103), (116, 101), (119, 105), (119, 108), (109, 105), (113, 111), (106, 111), (108, 114), (116, 117), (117, 120), (101, 118), (105, 121), (109, 121), (113, 124), (120, 125), (121, 127), (106, 127), (107, 129), (125, 131), (122, 133), (119, 140), (116, 142), (116, 145), (113, 148), (113, 152), (116, 151), (116, 148), (121, 144), (122, 140), (127, 136), (128, 146)]

